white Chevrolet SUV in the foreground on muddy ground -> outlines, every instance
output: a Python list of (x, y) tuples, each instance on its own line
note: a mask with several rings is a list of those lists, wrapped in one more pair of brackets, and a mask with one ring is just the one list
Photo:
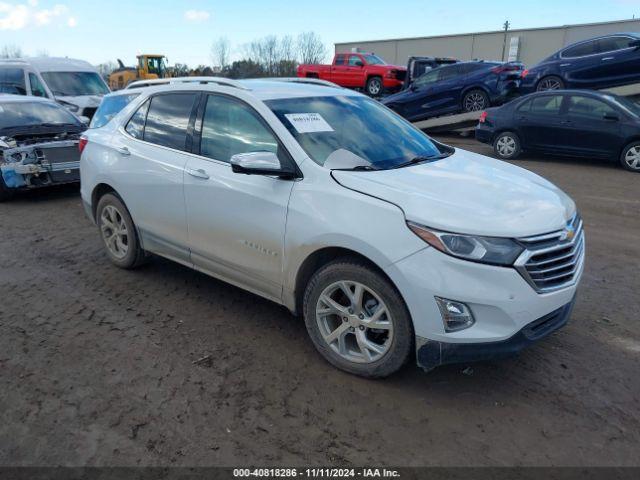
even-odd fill
[(302, 314), (367, 377), (506, 356), (563, 326), (584, 263), (574, 202), (312, 80), (140, 90), (81, 141), (113, 263), (153, 253)]

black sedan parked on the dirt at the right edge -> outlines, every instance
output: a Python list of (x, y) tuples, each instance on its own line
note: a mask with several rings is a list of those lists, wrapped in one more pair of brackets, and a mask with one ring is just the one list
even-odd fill
[(605, 158), (640, 172), (640, 105), (617, 95), (563, 90), (484, 112), (476, 138), (505, 160), (523, 150)]

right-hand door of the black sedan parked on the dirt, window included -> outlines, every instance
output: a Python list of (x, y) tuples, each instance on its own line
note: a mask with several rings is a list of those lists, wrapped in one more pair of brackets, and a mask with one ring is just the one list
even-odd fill
[(566, 121), (557, 131), (558, 145), (575, 155), (615, 157), (624, 142), (621, 117), (617, 109), (600, 99), (567, 96)]

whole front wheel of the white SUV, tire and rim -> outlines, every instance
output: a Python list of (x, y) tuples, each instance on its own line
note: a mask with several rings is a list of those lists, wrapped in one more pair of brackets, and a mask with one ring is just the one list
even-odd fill
[(398, 371), (413, 347), (411, 317), (395, 287), (355, 259), (318, 270), (305, 290), (307, 331), (333, 366), (367, 378)]

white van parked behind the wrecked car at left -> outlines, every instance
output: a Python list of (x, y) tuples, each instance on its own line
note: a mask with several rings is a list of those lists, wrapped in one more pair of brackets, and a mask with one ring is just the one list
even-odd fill
[(50, 98), (77, 116), (91, 118), (109, 87), (83, 60), (20, 58), (0, 60), (0, 93)]

